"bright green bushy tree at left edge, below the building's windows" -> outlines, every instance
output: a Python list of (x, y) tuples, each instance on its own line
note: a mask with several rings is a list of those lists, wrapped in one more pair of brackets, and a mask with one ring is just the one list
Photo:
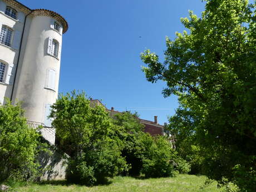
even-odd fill
[(36, 130), (28, 127), (20, 105), (8, 101), (0, 106), (0, 182), (27, 180), (37, 172), (38, 138)]

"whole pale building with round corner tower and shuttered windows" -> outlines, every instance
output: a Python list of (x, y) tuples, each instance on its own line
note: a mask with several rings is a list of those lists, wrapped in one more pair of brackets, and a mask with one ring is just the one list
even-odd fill
[[(0, 103), (21, 101), (31, 125), (51, 127), (50, 106), (58, 96), (62, 35), (60, 14), (0, 0)], [(54, 144), (55, 131), (43, 136)]]

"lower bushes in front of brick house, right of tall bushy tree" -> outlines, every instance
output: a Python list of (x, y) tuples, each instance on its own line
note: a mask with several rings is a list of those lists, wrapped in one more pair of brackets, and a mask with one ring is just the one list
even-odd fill
[(117, 114), (114, 124), (124, 127), (120, 139), (124, 141), (122, 156), (131, 165), (129, 175), (150, 177), (174, 176), (177, 171), (188, 173), (189, 165), (178, 157), (173, 145), (163, 136), (152, 137), (143, 132), (144, 125), (137, 114)]

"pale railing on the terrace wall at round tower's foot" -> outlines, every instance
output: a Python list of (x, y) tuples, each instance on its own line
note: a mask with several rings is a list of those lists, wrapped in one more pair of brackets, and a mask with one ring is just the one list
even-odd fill
[(41, 122), (27, 121), (29, 127), (37, 129), (42, 136), (49, 141), (52, 145), (55, 145), (55, 128), (47, 127)]

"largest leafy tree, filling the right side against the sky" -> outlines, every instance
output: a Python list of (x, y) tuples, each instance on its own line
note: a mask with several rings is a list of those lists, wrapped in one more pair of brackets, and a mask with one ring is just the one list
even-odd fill
[(255, 1), (206, 0), (201, 18), (181, 18), (188, 32), (166, 38), (163, 63), (141, 54), (147, 80), (165, 81), (164, 96), (178, 96), (176, 125), (195, 135), (205, 174), (241, 191), (256, 190), (255, 20)]

